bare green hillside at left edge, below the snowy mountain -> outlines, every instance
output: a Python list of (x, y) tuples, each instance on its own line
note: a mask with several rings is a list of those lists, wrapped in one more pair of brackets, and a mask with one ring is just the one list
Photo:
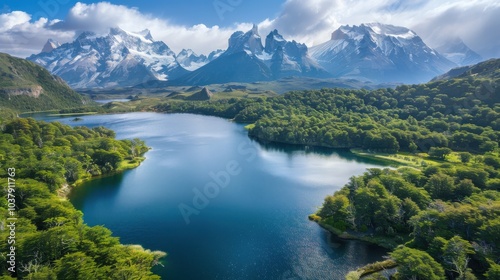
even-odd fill
[(0, 109), (20, 112), (81, 107), (88, 99), (25, 59), (0, 53)]

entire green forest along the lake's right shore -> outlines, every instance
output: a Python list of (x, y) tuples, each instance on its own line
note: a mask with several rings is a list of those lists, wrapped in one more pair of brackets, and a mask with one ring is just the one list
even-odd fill
[(390, 261), (348, 279), (387, 279), (377, 271), (394, 265), (394, 279), (500, 279), (499, 82), (467, 76), (372, 91), (168, 100), (154, 110), (249, 123), (249, 135), (264, 142), (430, 159), (352, 177), (310, 219), (392, 250)]

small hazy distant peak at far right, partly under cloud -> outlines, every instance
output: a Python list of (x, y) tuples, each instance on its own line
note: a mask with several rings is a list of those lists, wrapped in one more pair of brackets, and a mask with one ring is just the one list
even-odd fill
[(472, 65), (483, 61), (483, 58), (478, 53), (471, 50), (458, 37), (437, 47), (436, 50), (459, 66)]

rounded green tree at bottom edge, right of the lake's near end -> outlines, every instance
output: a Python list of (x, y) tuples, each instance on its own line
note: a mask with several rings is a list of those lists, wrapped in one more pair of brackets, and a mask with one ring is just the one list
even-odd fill
[(427, 252), (399, 247), (391, 253), (398, 263), (397, 279), (444, 280), (443, 267)]

